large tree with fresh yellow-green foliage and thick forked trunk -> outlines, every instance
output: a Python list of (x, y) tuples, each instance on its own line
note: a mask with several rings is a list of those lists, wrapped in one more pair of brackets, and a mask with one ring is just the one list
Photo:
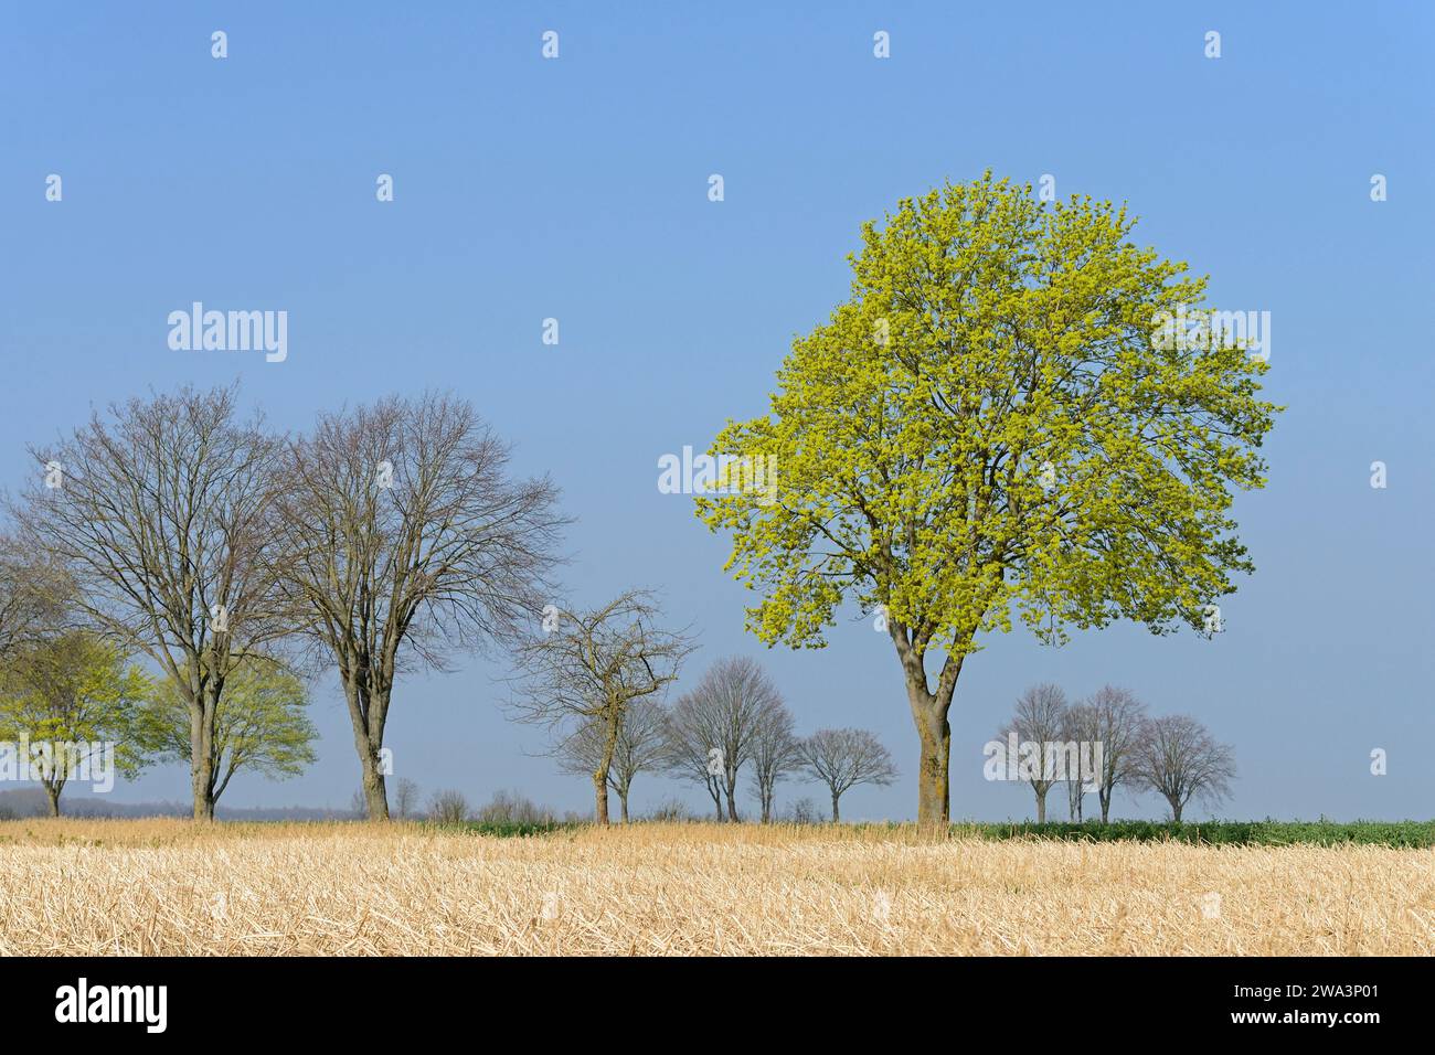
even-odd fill
[(1264, 484), (1267, 366), (1240, 342), (1162, 339), (1205, 280), (1138, 247), (1134, 225), (990, 174), (903, 200), (864, 224), (851, 297), (794, 342), (769, 413), (713, 442), (776, 466), (775, 500), (733, 487), (697, 502), (761, 594), (749, 629), (819, 647), (844, 600), (880, 613), (921, 744), (923, 824), (950, 817), (947, 716), (983, 634), (1203, 632), (1253, 570), (1230, 510)]

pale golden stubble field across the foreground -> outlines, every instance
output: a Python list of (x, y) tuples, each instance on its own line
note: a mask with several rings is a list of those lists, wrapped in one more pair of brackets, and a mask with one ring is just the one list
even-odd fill
[(0, 955), (1431, 955), (1435, 850), (0, 822)]

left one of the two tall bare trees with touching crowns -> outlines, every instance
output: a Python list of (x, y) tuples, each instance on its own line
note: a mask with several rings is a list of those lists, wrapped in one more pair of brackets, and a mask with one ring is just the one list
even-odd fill
[[(168, 675), (189, 712), (195, 820), (214, 818), (214, 721), (230, 673), (291, 627), (268, 518), (283, 441), (237, 389), (132, 399), (47, 448), (16, 510), (22, 543), (75, 586), (99, 632)], [(265, 550), (270, 550), (265, 554)]]

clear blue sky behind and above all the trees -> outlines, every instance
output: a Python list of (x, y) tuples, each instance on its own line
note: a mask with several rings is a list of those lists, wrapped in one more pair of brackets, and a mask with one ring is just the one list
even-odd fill
[[(550, 29), (557, 60), (540, 56)], [(228, 59), (211, 57), (214, 30)], [(1290, 409), (1270, 487), (1237, 507), (1258, 570), (1224, 604), (1225, 633), (992, 640), (953, 708), (953, 814), (1030, 811), (1025, 785), (983, 781), (982, 745), (1050, 679), (1129, 686), (1234, 744), (1223, 815), (1429, 817), (1432, 30), (1418, 3), (7, 1), (0, 484), (27, 471), (26, 442), (151, 386), (240, 376), (296, 429), (346, 400), (451, 388), (521, 469), (563, 487), (580, 601), (662, 589), (703, 634), (695, 675), (758, 656), (804, 731), (861, 725), (894, 751), (903, 779), (852, 791), (844, 815), (910, 817), (916, 735), (890, 643), (855, 613), (825, 652), (745, 637), (726, 541), (657, 492), (656, 462), (765, 408), (791, 337), (845, 297), (864, 220), (943, 178), (1052, 174), (1063, 197), (1128, 201), (1144, 241), (1211, 274), (1211, 303), (1271, 311), (1269, 390)], [(382, 172), (392, 204), (375, 200)], [(1370, 201), (1372, 174), (1388, 201)], [(288, 360), (169, 350), (165, 317), (194, 300), (287, 310)], [(540, 340), (550, 316), (557, 347)], [(504, 719), (502, 670), (403, 682), (399, 774), (587, 808), (584, 782)], [(349, 801), (331, 680), (313, 708), (313, 769), (237, 778), (225, 804)], [(1370, 775), (1372, 748), (1388, 775)], [(166, 766), (115, 795), (187, 787)], [(779, 801), (795, 794), (822, 798)], [(702, 805), (651, 777), (634, 801), (672, 795)]]

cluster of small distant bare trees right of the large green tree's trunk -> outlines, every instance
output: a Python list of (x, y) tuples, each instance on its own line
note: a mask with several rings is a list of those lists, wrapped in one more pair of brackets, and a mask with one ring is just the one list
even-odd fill
[[(1095, 789), (1105, 824), (1118, 787), (1161, 795), (1180, 822), (1192, 800), (1220, 802), (1236, 779), (1233, 748), (1218, 744), (1204, 725), (1190, 715), (1152, 718), (1135, 693), (1111, 685), (1076, 703), (1059, 685), (1035, 685), (1016, 700), (997, 735), (1038, 748), (1038, 764), (1026, 772), (1038, 822), (1046, 821), (1046, 795), (1059, 782), (1066, 784), (1072, 821), (1081, 822), (1085, 798)], [(1068, 758), (1089, 759), (1092, 772), (1058, 766), (1060, 745), (1072, 745)]]

